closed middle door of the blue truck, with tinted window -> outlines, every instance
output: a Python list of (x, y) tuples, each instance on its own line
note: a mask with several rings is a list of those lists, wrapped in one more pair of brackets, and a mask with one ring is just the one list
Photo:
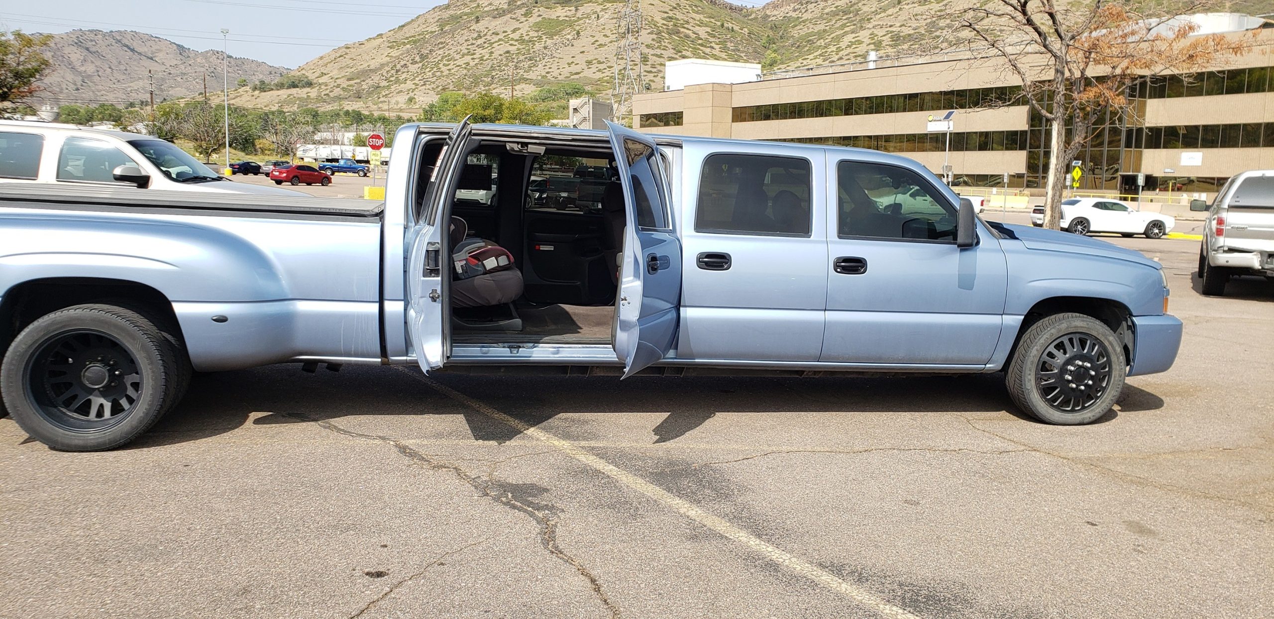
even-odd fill
[(679, 359), (819, 358), (829, 264), (824, 164), (808, 152), (762, 148), (687, 152)]

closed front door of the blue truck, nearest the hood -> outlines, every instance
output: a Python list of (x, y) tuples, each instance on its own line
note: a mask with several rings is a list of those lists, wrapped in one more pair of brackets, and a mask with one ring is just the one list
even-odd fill
[[(921, 189), (925, 200), (897, 195)], [(894, 162), (829, 160), (827, 331), (820, 359), (874, 364), (990, 360), (1008, 273), (978, 220), (954, 243), (958, 199), (933, 174)]]

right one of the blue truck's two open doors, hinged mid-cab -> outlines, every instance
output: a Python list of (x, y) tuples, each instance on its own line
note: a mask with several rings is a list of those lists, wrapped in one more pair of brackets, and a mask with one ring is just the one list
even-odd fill
[(682, 243), (673, 232), (669, 185), (655, 141), (614, 122), (606, 127), (627, 205), (615, 354), (628, 377), (662, 359), (676, 341)]

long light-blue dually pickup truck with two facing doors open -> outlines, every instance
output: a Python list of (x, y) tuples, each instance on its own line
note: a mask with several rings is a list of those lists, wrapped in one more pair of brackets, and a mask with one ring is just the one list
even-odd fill
[[(383, 205), (0, 186), (14, 419), (103, 450), (173, 408), (192, 369), (414, 363), (1003, 371), (1024, 411), (1082, 424), (1181, 340), (1157, 262), (984, 222), (897, 155), (617, 125), (406, 125), (395, 144)], [(600, 209), (529, 197), (563, 166), (614, 167)], [(489, 204), (457, 201), (488, 169)]]

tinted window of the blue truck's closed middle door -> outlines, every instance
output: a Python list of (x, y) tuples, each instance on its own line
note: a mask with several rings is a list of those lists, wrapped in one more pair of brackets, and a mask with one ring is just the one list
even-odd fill
[(809, 159), (708, 155), (699, 176), (694, 231), (808, 237), (809, 199)]

